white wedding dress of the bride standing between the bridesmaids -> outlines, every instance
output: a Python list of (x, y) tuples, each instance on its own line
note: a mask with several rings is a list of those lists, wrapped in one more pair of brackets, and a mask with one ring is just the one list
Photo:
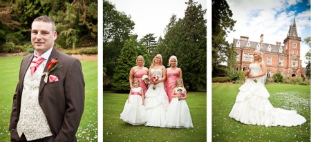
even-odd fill
[[(162, 69), (151, 69), (151, 76), (157, 75), (159, 80), (162, 79), (162, 74)], [(158, 83), (155, 90), (153, 90), (153, 84), (151, 84), (145, 97), (144, 108), (146, 109), (148, 119), (145, 125), (164, 128), (167, 107), (169, 105), (169, 98), (164, 90), (164, 83)]]

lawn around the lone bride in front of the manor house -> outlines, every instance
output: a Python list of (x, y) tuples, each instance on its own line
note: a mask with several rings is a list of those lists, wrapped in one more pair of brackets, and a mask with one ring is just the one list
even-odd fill
[(245, 125), (229, 117), (239, 87), (241, 85), (212, 85), (213, 141), (310, 141), (310, 85), (265, 85), (275, 108), (296, 110), (307, 119), (307, 122), (295, 127), (269, 128)]

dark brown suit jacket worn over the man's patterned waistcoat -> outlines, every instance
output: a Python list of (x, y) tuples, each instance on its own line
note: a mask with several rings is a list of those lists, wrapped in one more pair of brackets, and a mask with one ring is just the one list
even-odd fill
[[(21, 94), (23, 91), (23, 79), (26, 71), (34, 57), (30, 54), (23, 58), (19, 70), (19, 83), (15, 90), (12, 105), (12, 114), (10, 118), (11, 141), (18, 141), (19, 136), (16, 132), (17, 122), (21, 108)], [(53, 141), (77, 141), (75, 134), (79, 127), (84, 110), (84, 77), (82, 74), (82, 65), (78, 59), (70, 57), (67, 54), (59, 52), (53, 48), (50, 57), (57, 59), (59, 65), (50, 72), (51, 75), (58, 77), (59, 81), (45, 83), (44, 77), (41, 77), (39, 86), (39, 105), (41, 106), (46, 119), (53, 133)], [(47, 70), (47, 65), (44, 72)]]

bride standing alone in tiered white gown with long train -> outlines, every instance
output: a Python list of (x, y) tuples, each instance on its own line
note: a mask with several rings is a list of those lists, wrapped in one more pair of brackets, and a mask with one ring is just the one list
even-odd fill
[(229, 114), (231, 118), (241, 123), (266, 127), (296, 126), (305, 123), (305, 118), (297, 114), (295, 110), (274, 108), (268, 100), (270, 94), (262, 80), (265, 77), (266, 68), (260, 51), (254, 51), (254, 61), (249, 68), (251, 72), (247, 81), (239, 88), (236, 103)]

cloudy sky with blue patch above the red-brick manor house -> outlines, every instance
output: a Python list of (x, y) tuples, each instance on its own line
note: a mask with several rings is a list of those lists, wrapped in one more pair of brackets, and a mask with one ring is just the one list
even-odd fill
[[(288, 34), (290, 25), (296, 19), (298, 36), (301, 41), (310, 37), (310, 0), (227, 0), (232, 19), (236, 20), (235, 32), (228, 33), (229, 43), (240, 36), (249, 37), (249, 41), (260, 41), (263, 34), (263, 43), (275, 45), (283, 41)], [(301, 42), (302, 66), (305, 67), (305, 53), (310, 48)]]

